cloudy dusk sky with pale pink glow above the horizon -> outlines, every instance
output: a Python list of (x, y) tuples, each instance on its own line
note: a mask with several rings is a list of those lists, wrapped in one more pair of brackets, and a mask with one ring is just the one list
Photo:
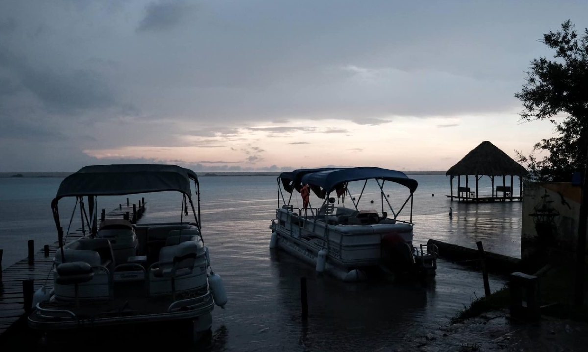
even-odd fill
[(0, 2), (0, 171), (447, 170), (553, 136), (514, 97), (586, 1)]

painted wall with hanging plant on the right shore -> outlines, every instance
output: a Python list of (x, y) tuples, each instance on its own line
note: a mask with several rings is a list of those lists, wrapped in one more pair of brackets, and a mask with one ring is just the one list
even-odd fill
[(557, 251), (575, 258), (582, 189), (570, 182), (524, 182), (521, 258)]

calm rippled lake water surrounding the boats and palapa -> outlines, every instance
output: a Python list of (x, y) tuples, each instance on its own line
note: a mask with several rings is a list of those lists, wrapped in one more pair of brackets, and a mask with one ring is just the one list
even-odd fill
[[(483, 241), (487, 251), (520, 257), (520, 202), (458, 204), (445, 197), (449, 192), (445, 175), (413, 178), (419, 181), (413, 209), (415, 243), (434, 238), (475, 248), (476, 241)], [(28, 239), (35, 239), (38, 248), (56, 240), (50, 203), (61, 180), (0, 178), (4, 268), (26, 256)], [(223, 277), (229, 296), (226, 309), (215, 308), (212, 339), (200, 350), (372, 351), (401, 347), (407, 334), (424, 334), (446, 324), (457, 310), (483, 296), (480, 273), (442, 260), (435, 279), (424, 286), (385, 281), (349, 284), (316, 277), (310, 266), (268, 248), (269, 225), (278, 205), (275, 177), (201, 177), (200, 182), (203, 236), (212, 268)], [(387, 199), (396, 211), (407, 190), (388, 186)], [(358, 197), (362, 187), (363, 183), (349, 188)], [(489, 193), (489, 178), (480, 180), (480, 189)], [(179, 221), (182, 198), (178, 193), (133, 195), (131, 201), (141, 197), (147, 201), (142, 222)], [(99, 198), (98, 207), (109, 211), (125, 198)], [(368, 184), (360, 208), (381, 211), (380, 201), (375, 182)], [(292, 202), (295, 207), (301, 204), (294, 197)], [(311, 204), (320, 205), (316, 198)], [(346, 205), (352, 206), (350, 199)], [(71, 201), (60, 202), (62, 224), (69, 223), (72, 206)], [(409, 210), (405, 208), (402, 214), (408, 215)], [(74, 218), (72, 228), (78, 228), (79, 214)], [(309, 278), (306, 324), (300, 322), (301, 276)], [(502, 277), (490, 277), (493, 290), (503, 285)]]

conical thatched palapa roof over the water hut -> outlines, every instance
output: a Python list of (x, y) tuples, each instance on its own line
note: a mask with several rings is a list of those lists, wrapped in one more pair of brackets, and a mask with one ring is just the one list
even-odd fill
[(483, 141), (470, 153), (467, 153), (457, 164), (447, 170), (446, 175), (487, 175), (523, 176), (527, 170), (513, 158), (506, 155), (496, 145)]

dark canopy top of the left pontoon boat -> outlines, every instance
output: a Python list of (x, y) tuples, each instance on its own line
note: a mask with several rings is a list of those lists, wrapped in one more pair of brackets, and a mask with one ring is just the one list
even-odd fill
[(54, 202), (63, 197), (162, 191), (178, 191), (191, 197), (190, 180), (198, 184), (195, 172), (176, 165), (92, 165), (66, 177)]

